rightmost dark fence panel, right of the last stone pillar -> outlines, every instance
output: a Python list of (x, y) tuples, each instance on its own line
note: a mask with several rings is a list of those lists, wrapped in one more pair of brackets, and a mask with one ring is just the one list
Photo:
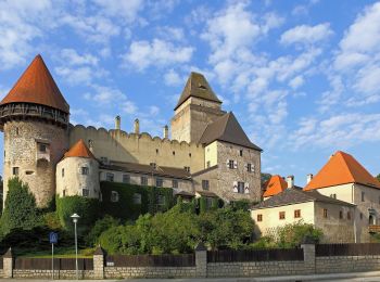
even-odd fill
[(319, 245), (316, 245), (315, 253), (317, 257), (380, 255), (380, 244), (379, 243), (319, 244)]

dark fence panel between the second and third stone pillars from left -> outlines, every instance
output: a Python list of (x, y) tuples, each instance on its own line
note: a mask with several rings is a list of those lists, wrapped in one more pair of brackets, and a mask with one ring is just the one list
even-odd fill
[(193, 267), (194, 254), (182, 255), (114, 255), (106, 256), (109, 267)]

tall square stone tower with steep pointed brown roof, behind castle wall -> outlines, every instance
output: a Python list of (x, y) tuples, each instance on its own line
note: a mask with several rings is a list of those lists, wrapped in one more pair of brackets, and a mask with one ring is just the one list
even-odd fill
[(172, 139), (199, 142), (206, 126), (225, 114), (202, 74), (191, 73), (172, 119)]

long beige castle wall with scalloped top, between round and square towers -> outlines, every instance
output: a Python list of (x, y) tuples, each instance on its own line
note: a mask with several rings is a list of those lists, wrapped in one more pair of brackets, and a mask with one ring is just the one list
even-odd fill
[(116, 162), (138, 163), (159, 166), (190, 167), (191, 172), (204, 168), (204, 149), (195, 143), (152, 138), (149, 133), (127, 133), (123, 130), (96, 129), (74, 126), (69, 131), (69, 145), (84, 139), (91, 140), (97, 158), (107, 157)]

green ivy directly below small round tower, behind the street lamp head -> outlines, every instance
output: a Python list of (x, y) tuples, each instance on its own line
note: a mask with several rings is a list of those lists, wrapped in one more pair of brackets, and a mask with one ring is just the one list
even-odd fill
[(77, 230), (78, 234), (84, 234), (89, 230), (99, 216), (99, 201), (83, 196), (56, 197), (56, 213), (60, 222), (65, 230), (73, 231), (74, 223), (71, 218), (73, 214), (80, 216)]

